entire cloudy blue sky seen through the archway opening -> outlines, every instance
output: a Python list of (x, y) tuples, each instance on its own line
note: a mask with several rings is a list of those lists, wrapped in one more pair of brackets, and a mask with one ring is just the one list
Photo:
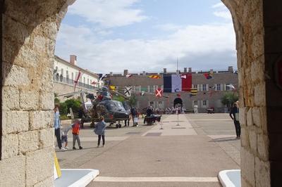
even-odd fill
[(231, 14), (220, 0), (76, 0), (56, 56), (96, 73), (237, 68)]

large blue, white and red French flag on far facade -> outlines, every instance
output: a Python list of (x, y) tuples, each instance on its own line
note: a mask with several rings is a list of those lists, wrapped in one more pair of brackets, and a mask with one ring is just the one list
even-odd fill
[(192, 75), (185, 74), (185, 79), (181, 79), (184, 75), (164, 75), (164, 92), (190, 91), (192, 87)]

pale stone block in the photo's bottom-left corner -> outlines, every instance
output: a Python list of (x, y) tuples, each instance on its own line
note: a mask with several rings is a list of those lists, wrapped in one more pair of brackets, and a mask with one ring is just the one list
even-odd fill
[(25, 156), (0, 160), (0, 186), (25, 186)]

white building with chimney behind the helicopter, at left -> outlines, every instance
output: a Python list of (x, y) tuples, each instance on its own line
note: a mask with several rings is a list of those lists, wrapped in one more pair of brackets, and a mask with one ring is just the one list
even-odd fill
[[(103, 86), (103, 82), (99, 81), (99, 75), (82, 69), (77, 65), (77, 57), (70, 56), (70, 61), (63, 60), (58, 56), (54, 58), (54, 93), (57, 95), (71, 93), (74, 91), (87, 91), (87, 93), (97, 93), (97, 88)], [(75, 80), (78, 78), (75, 86)], [(63, 96), (59, 97), (63, 99)]]

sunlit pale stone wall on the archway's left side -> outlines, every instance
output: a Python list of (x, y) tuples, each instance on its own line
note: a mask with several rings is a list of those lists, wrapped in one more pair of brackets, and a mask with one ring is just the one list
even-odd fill
[(1, 186), (52, 186), (53, 63), (65, 1), (4, 3)]

